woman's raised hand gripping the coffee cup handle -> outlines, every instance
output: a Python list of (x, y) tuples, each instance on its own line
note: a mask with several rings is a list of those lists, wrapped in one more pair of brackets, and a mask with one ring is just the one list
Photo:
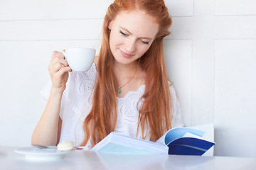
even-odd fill
[(53, 52), (48, 70), (52, 81), (52, 90), (63, 92), (68, 81), (68, 72), (72, 71), (68, 62), (64, 59), (63, 53)]

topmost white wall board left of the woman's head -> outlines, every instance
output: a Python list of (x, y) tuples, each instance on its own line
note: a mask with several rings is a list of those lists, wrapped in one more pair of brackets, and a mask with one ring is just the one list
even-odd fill
[(112, 0), (0, 1), (0, 21), (104, 18)]

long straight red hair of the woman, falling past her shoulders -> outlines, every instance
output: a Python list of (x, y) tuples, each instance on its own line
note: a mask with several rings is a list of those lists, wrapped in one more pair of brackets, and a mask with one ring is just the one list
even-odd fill
[(118, 82), (113, 71), (114, 57), (110, 50), (108, 24), (114, 20), (119, 11), (137, 9), (153, 16), (156, 18), (156, 23), (159, 23), (159, 32), (156, 34), (154, 42), (152, 42), (149, 50), (140, 57), (140, 60), (137, 60), (139, 66), (147, 75), (145, 80), (146, 89), (142, 96), (143, 104), (139, 108), (138, 130), (142, 130), (144, 138), (146, 135), (150, 135), (150, 140), (156, 141), (171, 128), (173, 106), (163, 50), (163, 39), (170, 34), (169, 28), (172, 23), (168, 9), (164, 0), (116, 0), (109, 6), (103, 22), (103, 37), (97, 62), (95, 94), (92, 110), (83, 124), (85, 139), (82, 145), (86, 145), (90, 139), (92, 146), (94, 146), (114, 131), (117, 122)]

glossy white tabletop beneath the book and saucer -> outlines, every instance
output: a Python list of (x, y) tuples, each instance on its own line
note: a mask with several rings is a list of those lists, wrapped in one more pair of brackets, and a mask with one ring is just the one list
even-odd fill
[(0, 147), (0, 169), (120, 169), (120, 170), (246, 170), (256, 169), (256, 158), (242, 157), (198, 157), (163, 154), (97, 154), (90, 151), (76, 150), (66, 154), (63, 159), (51, 161), (31, 161), (14, 149), (18, 147)]

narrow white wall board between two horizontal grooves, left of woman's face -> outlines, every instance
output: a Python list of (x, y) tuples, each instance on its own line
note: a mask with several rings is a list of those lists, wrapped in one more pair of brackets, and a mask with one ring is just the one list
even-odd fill
[(103, 19), (0, 22), (0, 40), (99, 40)]

